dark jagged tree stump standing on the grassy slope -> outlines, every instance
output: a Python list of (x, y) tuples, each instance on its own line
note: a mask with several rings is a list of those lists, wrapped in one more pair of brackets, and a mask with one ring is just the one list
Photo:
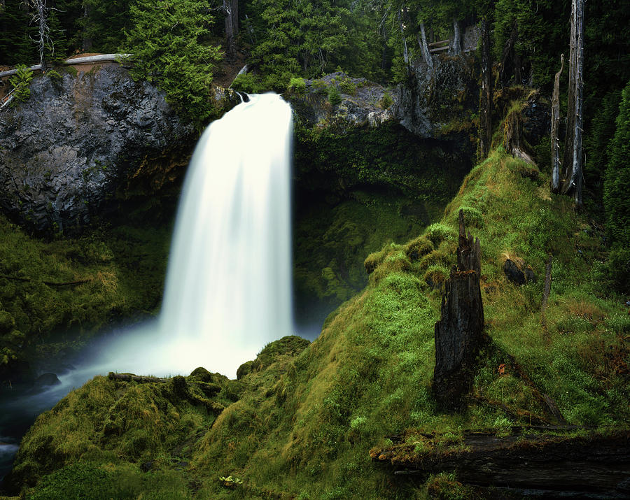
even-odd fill
[(441, 319), (435, 323), (433, 395), (443, 410), (463, 409), (472, 384), (472, 368), (484, 329), (480, 272), (479, 239), (465, 234), (460, 210), (457, 267), (444, 284)]

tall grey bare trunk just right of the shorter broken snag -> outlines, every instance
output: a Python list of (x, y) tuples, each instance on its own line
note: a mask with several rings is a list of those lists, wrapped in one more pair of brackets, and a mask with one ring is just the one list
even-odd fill
[[(570, 83), (575, 94), (575, 108), (569, 108), (568, 113), (573, 115), (573, 129), (568, 130), (573, 138), (573, 151), (570, 157), (570, 166), (565, 165), (565, 171), (570, 171), (566, 176), (562, 187), (563, 194), (573, 194), (575, 203), (582, 205), (582, 93), (584, 82), (582, 73), (584, 69), (584, 0), (573, 0), (573, 18), (571, 19), (572, 32), (575, 38), (571, 40), (571, 50), (575, 47), (575, 71), (574, 80)], [(573, 28), (575, 24), (575, 28)], [(571, 88), (570, 87), (570, 88)], [(566, 153), (565, 153), (566, 159)]]

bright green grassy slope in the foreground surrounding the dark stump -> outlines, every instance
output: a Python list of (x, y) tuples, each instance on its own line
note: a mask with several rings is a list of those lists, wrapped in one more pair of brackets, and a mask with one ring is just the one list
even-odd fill
[[(26, 464), (41, 461), (30, 443), (48, 440), (55, 457), (49, 465), (66, 464), (47, 479), (56, 481), (59, 495), (77, 478), (89, 483), (94, 471), (125, 471), (133, 478), (127, 483), (136, 485), (137, 495), (146, 481), (139, 464), (166, 454), (169, 459), (160, 462), (155, 474), (160, 480), (179, 478), (180, 497), (184, 493), (200, 498), (424, 497), (429, 483), (417, 489), (410, 483), (391, 484), (370, 462), (370, 448), (409, 428), (438, 431), (446, 441), (456, 442), (464, 428), (507, 431), (512, 422), (502, 410), (483, 403), (471, 403), (462, 415), (437, 413), (430, 396), (433, 324), (440, 294), (426, 278), (439, 282), (454, 262), (459, 208), (464, 208), (468, 227), (481, 240), (482, 297), (491, 338), (479, 357), (475, 393), (514, 410), (549, 417), (533, 397), (531, 385), (512, 373), (511, 355), (533, 386), (556, 401), (568, 422), (601, 429), (623, 426), (630, 418), (629, 317), (621, 297), (612, 295), (599, 272), (598, 238), (587, 234), (589, 227), (574, 213), (571, 201), (549, 194), (547, 186), (536, 169), (502, 150), (494, 151), (465, 178), (439, 224), (407, 245), (387, 245), (368, 257), (375, 268), (369, 284), (330, 315), (314, 343), (299, 355), (280, 354), (269, 366), (258, 364), (242, 379), (246, 389), (239, 401), (223, 410), (209, 429), (208, 422), (189, 419), (188, 438), (202, 437), (189, 444), (190, 463), (183, 471), (173, 465), (176, 447), (151, 445), (139, 457), (132, 454), (130, 442), (141, 422), (129, 420), (118, 441), (104, 434), (102, 422), (77, 424), (92, 429), (86, 438), (94, 444), (93, 452), (69, 453), (66, 443), (81, 438), (76, 433), (82, 431), (50, 427), (48, 414), (38, 419), (22, 444), (18, 471), (24, 466), (28, 476)], [(540, 300), (549, 252), (554, 268), (545, 334)], [(502, 271), (507, 256), (531, 265), (538, 282), (523, 287), (508, 283)], [(503, 363), (508, 369), (500, 376), (498, 366)], [(69, 398), (91, 400), (92, 385)], [(101, 410), (114, 408), (110, 403), (102, 403)], [(93, 420), (101, 403), (94, 404), (89, 411), (73, 410), (62, 401), (52, 411), (64, 418)], [(167, 407), (160, 398), (154, 404)], [(138, 406), (138, 418), (142, 420), (151, 408)], [(175, 405), (175, 411), (182, 413), (183, 408)], [(162, 413), (155, 418), (163, 419)], [(77, 459), (92, 472), (77, 476), (77, 465), (71, 465)], [(63, 471), (70, 471), (73, 479), (64, 480)], [(33, 470), (31, 480), (41, 473), (42, 469)], [(244, 483), (224, 487), (219, 477), (228, 475)], [(132, 496), (123, 492), (127, 483), (121, 483), (118, 497)], [(446, 483), (454, 482), (447, 478)], [(177, 497), (166, 489), (144, 488), (148, 497)]]

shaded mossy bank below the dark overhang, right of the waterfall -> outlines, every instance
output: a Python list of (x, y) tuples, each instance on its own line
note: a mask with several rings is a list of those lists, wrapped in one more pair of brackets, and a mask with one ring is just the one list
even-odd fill
[(311, 203), (293, 235), (299, 322), (319, 320), (321, 325), (331, 310), (367, 285), (367, 255), (385, 241), (400, 243), (419, 234), (428, 217), (424, 205), (400, 195), (355, 192), (332, 208), (323, 200)]

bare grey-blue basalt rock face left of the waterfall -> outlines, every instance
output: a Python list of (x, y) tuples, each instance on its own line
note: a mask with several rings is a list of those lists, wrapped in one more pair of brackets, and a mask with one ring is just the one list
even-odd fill
[(36, 232), (77, 232), (174, 180), (196, 138), (118, 64), (36, 78), (28, 101), (0, 113), (0, 208)]

